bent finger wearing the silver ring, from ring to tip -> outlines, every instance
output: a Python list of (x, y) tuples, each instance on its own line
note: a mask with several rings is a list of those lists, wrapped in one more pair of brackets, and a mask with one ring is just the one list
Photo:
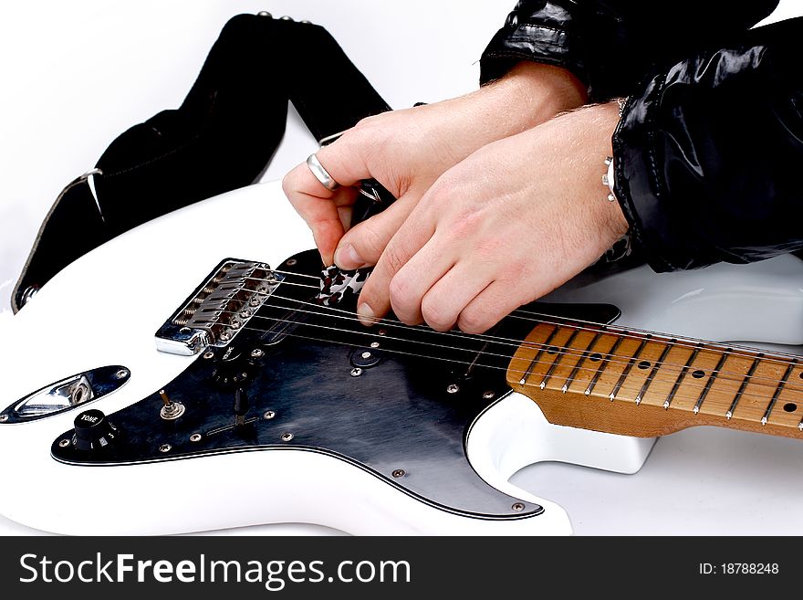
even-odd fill
[(285, 175), (282, 188), (290, 204), (312, 229), (324, 263), (331, 265), (335, 247), (346, 231), (339, 208), (354, 204), (356, 190), (339, 187), (330, 192), (309, 171), (307, 163), (299, 164)]

